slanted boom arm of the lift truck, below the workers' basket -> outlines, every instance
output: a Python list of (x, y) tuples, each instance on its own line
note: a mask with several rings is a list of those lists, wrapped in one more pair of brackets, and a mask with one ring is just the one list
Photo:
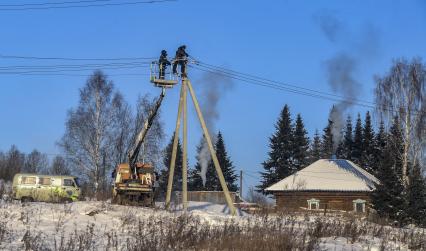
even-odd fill
[(151, 128), (152, 123), (154, 122), (155, 116), (157, 115), (158, 110), (160, 109), (161, 102), (163, 101), (164, 96), (165, 89), (163, 88), (160, 97), (157, 99), (154, 108), (150, 111), (147, 120), (145, 120), (144, 122), (142, 130), (139, 132), (138, 137), (136, 138), (135, 146), (129, 151), (129, 165), (133, 173), (135, 173), (134, 167), (136, 165), (142, 143), (144, 142), (148, 130)]

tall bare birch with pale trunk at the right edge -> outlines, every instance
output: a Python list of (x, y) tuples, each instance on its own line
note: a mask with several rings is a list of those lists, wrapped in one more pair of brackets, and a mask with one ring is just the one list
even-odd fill
[(376, 103), (379, 114), (391, 122), (401, 120), (404, 134), (402, 178), (408, 184), (409, 161), (424, 159), (426, 147), (426, 65), (420, 59), (396, 60), (390, 72), (376, 77)]

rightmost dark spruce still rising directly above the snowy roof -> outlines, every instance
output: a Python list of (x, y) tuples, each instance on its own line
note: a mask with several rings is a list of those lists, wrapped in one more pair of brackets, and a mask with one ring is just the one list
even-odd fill
[(374, 130), (371, 124), (370, 112), (367, 111), (365, 114), (364, 127), (362, 129), (362, 155), (361, 165), (369, 173), (374, 174), (377, 167), (374, 163), (375, 155), (375, 142), (374, 142)]

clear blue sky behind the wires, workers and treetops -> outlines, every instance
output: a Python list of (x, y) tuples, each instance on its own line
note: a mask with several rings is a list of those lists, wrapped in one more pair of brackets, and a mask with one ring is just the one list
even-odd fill
[[(39, 1), (3, 0), (1, 4)], [(54, 2), (54, 1), (50, 1)], [(318, 17), (338, 20), (333, 41)], [(360, 98), (373, 100), (373, 77), (385, 74), (392, 59), (426, 58), (426, 3), (411, 1), (200, 1), (56, 10), (0, 11), (0, 54), (39, 57), (157, 57), (186, 44), (204, 62), (237, 71), (332, 92), (324, 62), (344, 52), (357, 60)], [(64, 63), (64, 62), (60, 62)], [(67, 62), (65, 62), (67, 63)], [(70, 62), (68, 62), (70, 63)], [(73, 63), (73, 62), (71, 62)], [(0, 58), (0, 67), (55, 64)], [(58, 63), (56, 63), (58, 64)], [(105, 70), (134, 105), (139, 94), (157, 95), (146, 68)], [(74, 72), (88, 74), (90, 72)], [(199, 72), (190, 76), (202, 93)], [(85, 76), (22, 76), (0, 73), (0, 150), (15, 144), (56, 154), (68, 109), (78, 102)], [(223, 83), (227, 84), (227, 83)], [(173, 131), (178, 89), (169, 91), (162, 110), (168, 137)], [(202, 95), (200, 95), (202, 99)], [(219, 103), (220, 129), (237, 168), (259, 176), (268, 137), (284, 104), (301, 113), (312, 135), (327, 123), (332, 101), (235, 81)], [(354, 106), (349, 114), (365, 113)], [(200, 129), (190, 110), (190, 162)], [(168, 140), (168, 139), (167, 139)], [(256, 180), (246, 177), (247, 185)], [(247, 187), (246, 187), (247, 189)]]

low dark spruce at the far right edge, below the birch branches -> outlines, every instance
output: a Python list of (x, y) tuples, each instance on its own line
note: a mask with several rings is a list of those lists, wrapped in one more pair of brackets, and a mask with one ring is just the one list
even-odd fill
[(419, 165), (411, 168), (409, 178), (407, 214), (411, 217), (413, 223), (420, 227), (426, 227), (426, 180)]

